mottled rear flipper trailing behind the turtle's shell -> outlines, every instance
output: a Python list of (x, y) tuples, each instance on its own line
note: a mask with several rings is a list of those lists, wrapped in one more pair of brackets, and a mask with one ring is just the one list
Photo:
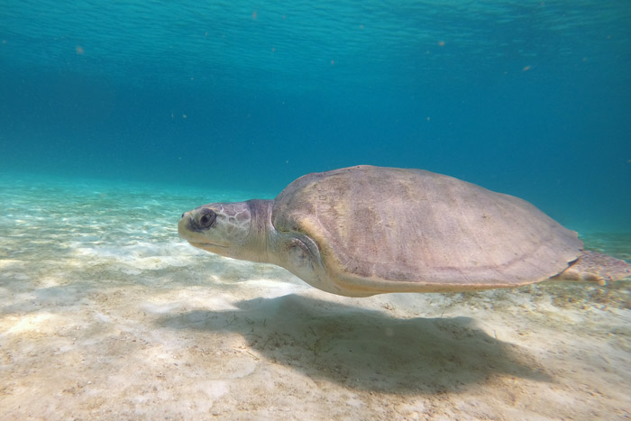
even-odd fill
[(611, 257), (601, 252), (584, 251), (576, 261), (570, 263), (568, 269), (552, 279), (607, 282), (631, 277), (631, 265), (626, 261)]

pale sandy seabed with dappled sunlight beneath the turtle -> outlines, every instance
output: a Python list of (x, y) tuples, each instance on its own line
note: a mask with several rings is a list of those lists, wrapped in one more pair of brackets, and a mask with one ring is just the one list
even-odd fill
[(0, 179), (3, 420), (629, 418), (631, 282), (336, 297), (179, 240), (208, 197)]

